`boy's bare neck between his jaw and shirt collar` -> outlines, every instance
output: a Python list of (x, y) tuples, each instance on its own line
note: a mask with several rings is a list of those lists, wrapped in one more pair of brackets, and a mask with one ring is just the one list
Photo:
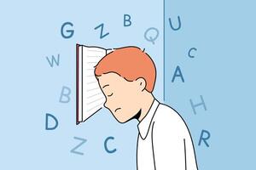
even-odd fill
[(153, 94), (147, 92), (143, 96), (143, 99), (141, 101), (143, 101), (142, 108), (140, 110), (140, 116), (137, 119), (139, 122), (142, 122), (143, 118), (145, 116), (147, 116), (148, 111), (150, 110), (151, 105), (153, 105), (154, 96), (153, 96)]

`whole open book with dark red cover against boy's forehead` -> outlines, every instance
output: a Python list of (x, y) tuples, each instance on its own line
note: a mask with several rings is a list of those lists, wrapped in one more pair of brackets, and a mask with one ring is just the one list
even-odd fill
[(105, 97), (94, 75), (96, 64), (113, 49), (76, 45), (76, 124), (101, 110)]

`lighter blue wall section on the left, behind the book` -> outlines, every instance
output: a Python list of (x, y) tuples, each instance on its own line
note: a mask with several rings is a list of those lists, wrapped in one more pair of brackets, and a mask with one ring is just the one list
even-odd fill
[[(131, 26), (124, 27), (124, 14)], [(145, 48), (158, 69), (154, 95), (162, 100), (162, 16), (163, 3), (153, 0), (1, 2), (0, 169), (136, 169), (136, 121), (119, 124), (102, 110), (75, 125), (75, 44)], [(71, 38), (61, 37), (65, 22), (73, 23)], [(101, 39), (94, 28), (102, 23), (109, 35)], [(160, 31), (155, 44), (144, 39), (149, 27)], [(58, 54), (59, 66), (51, 67)], [(71, 89), (68, 103), (59, 102), (63, 87)], [(58, 119), (53, 131), (45, 130), (46, 113)], [(110, 136), (113, 154), (104, 148)], [(71, 152), (79, 139), (86, 140), (77, 149), (84, 155)]]

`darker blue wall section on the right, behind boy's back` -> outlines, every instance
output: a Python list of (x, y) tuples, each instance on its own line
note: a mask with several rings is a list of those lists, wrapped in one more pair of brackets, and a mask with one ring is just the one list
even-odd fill
[[(200, 169), (253, 169), (255, 1), (165, 1), (165, 97), (188, 123)], [(169, 18), (181, 28), (173, 31)], [(196, 48), (189, 58), (190, 48)], [(180, 66), (184, 82), (172, 76)], [(207, 106), (196, 108), (203, 97)], [(201, 131), (211, 133), (198, 146)]]

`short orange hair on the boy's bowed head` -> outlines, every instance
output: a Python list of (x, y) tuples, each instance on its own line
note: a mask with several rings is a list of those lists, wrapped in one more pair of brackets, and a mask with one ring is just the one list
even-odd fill
[(103, 57), (96, 65), (96, 77), (114, 72), (127, 81), (134, 81), (143, 77), (146, 89), (152, 92), (156, 78), (154, 61), (148, 54), (137, 47), (117, 48)]

